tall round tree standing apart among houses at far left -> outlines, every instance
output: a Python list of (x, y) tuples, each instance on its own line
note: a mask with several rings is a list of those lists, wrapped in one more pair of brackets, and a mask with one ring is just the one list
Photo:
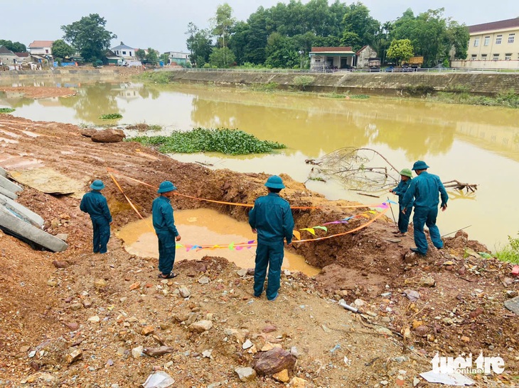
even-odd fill
[(117, 35), (107, 31), (107, 21), (97, 13), (83, 16), (67, 26), (61, 26), (63, 39), (70, 43), (85, 61), (100, 60), (109, 49), (110, 40)]

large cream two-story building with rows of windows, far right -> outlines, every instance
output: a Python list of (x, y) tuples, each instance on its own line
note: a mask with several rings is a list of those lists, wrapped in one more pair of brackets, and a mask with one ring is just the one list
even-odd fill
[(519, 69), (519, 18), (469, 26), (466, 60), (451, 61), (467, 69)]

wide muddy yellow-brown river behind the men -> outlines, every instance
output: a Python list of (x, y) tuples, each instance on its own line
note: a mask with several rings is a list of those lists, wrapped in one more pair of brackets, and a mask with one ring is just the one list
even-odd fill
[[(30, 86), (24, 84), (21, 86)], [(40, 86), (52, 86), (47, 82)], [(375, 148), (397, 169), (425, 160), (442, 181), (478, 184), (476, 194), (449, 191), (449, 208), (439, 214), (442, 235), (471, 225), (470, 238), (495, 250), (519, 231), (519, 110), (440, 104), (419, 99), (331, 99), (316, 94), (266, 94), (240, 89), (190, 85), (81, 84), (77, 96), (30, 100), (0, 94), (0, 106), (14, 116), (65, 123), (147, 123), (163, 126), (153, 134), (196, 127), (238, 128), (262, 140), (288, 146), (265, 155), (172, 155), (183, 162), (237, 172), (287, 173), (305, 182), (315, 159), (337, 148)], [(121, 113), (119, 121), (102, 121), (103, 113)], [(129, 133), (130, 135), (136, 132)], [(3, 134), (0, 131), (0, 138)], [(1, 140), (0, 140), (1, 143)], [(177, 184), (174, 177), (171, 180)], [(306, 182), (328, 199), (373, 203), (339, 182)], [(397, 200), (390, 194), (390, 199)], [(395, 213), (397, 208), (394, 209)], [(334, 220), (331, 220), (334, 221)]]

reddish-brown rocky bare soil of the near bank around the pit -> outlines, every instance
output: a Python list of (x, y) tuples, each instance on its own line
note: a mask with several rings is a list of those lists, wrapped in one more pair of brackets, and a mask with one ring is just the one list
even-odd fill
[[(80, 199), (28, 186), (19, 193), (18, 202), (46, 220), (48, 233), (68, 235), (69, 248), (33, 250), (0, 232), (0, 386), (137, 387), (161, 370), (176, 387), (427, 387), (419, 373), (432, 369), (434, 355), (476, 359), (481, 351), (503, 357), (505, 372), (474, 375), (476, 386), (519, 384), (519, 322), (503, 306), (519, 281), (510, 264), (478, 255), (488, 250), (462, 231), (426, 257), (410, 254), (412, 233), (395, 238), (385, 216), (355, 233), (293, 244), (290, 250), (322, 271), (311, 278), (285, 271), (271, 302), (254, 298), (250, 271), (238, 273), (225, 250), (178, 261), (178, 277), (158, 279), (156, 259), (130, 255), (113, 235), (138, 216), (107, 167), (119, 172), (142, 216), (151, 214), (153, 187), (165, 179), (180, 194), (252, 204), (265, 194), (267, 174), (209, 170), (138, 143), (93, 143), (74, 125), (9, 115), (0, 115), (0, 150), (8, 172), (47, 167), (82, 182), (84, 191), (102, 179), (114, 218), (109, 253), (95, 255)], [(339, 208), (349, 203), (282, 177), (291, 205), (321, 206), (294, 210), (296, 228), (369, 210)], [(247, 220), (242, 206), (183, 196), (172, 204)], [(332, 225), (328, 233), (363, 222)], [(339, 299), (363, 314), (346, 311)], [(148, 355), (160, 345), (169, 353)], [(254, 366), (279, 346), (296, 357), (288, 376), (240, 380), (237, 367)]]

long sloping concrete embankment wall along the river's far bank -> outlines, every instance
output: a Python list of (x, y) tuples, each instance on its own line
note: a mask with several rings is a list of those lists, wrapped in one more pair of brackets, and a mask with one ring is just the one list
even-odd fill
[(306, 87), (316, 92), (347, 92), (368, 94), (401, 94), (402, 92), (432, 92), (466, 90), (474, 94), (497, 94), (510, 89), (519, 94), (518, 73), (294, 73), (270, 74), (254, 72), (196, 72), (175, 71), (177, 82), (215, 82), (219, 84), (268, 84), (276, 82), (280, 87), (296, 84), (301, 75), (314, 77)]

